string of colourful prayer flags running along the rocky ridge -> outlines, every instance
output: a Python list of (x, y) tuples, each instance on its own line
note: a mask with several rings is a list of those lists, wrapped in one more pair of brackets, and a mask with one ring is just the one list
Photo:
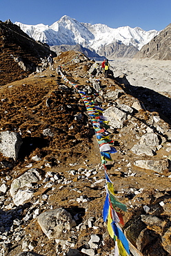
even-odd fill
[[(67, 80), (62, 72), (61, 75), (64, 81), (69, 82), (70, 84), (72, 84), (72, 86), (74, 86), (75, 89), (77, 89), (77, 85)], [(119, 226), (119, 223), (121, 223), (122, 225), (124, 224), (120, 210), (123, 210), (125, 212), (127, 208), (126, 205), (121, 203), (114, 195), (114, 187), (112, 181), (110, 181), (109, 176), (106, 172), (106, 163), (108, 161), (112, 161), (110, 154), (114, 154), (117, 152), (114, 147), (111, 147), (114, 142), (113, 140), (110, 140), (110, 134), (108, 133), (108, 131), (106, 131), (106, 129), (108, 129), (110, 126), (108, 125), (107, 118), (103, 116), (103, 109), (97, 106), (97, 104), (93, 101), (92, 97), (86, 95), (84, 91), (77, 91), (81, 95), (81, 98), (88, 111), (88, 115), (90, 116), (92, 126), (96, 134), (97, 142), (99, 144), (101, 163), (103, 163), (103, 167), (105, 170), (106, 196), (105, 203), (103, 205), (103, 220), (108, 221), (108, 232), (110, 234), (110, 237), (114, 239), (114, 256), (129, 256), (130, 250), (128, 240), (126, 239), (121, 227)]]

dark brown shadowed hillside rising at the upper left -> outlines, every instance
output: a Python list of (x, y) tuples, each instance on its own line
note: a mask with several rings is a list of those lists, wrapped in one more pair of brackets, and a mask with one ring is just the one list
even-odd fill
[(49, 53), (48, 45), (34, 41), (19, 26), (0, 21), (0, 85), (27, 77)]

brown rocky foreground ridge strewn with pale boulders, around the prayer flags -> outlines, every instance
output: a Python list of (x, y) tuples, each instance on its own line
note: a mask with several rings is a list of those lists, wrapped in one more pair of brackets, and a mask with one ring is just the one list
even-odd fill
[[(61, 53), (54, 62), (90, 94), (101, 84), (94, 100), (105, 109), (117, 149), (107, 167), (128, 208), (122, 228), (130, 255), (170, 255), (171, 129), (170, 111), (159, 106), (163, 95), (100, 70), (91, 76), (94, 62), (81, 53)], [(114, 255), (102, 217), (99, 145), (77, 90), (44, 68), (1, 86), (0, 95), (0, 255)], [(18, 152), (8, 147), (16, 134)]]

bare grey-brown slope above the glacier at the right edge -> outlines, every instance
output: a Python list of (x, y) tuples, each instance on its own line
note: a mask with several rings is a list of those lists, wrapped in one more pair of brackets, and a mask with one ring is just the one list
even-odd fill
[(134, 58), (150, 58), (154, 60), (171, 60), (171, 24), (154, 37)]

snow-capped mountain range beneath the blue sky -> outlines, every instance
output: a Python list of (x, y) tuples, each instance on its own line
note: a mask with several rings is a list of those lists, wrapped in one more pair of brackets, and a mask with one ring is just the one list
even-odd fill
[(134, 46), (140, 50), (143, 45), (148, 44), (154, 36), (159, 34), (157, 30), (145, 31), (129, 26), (110, 28), (104, 24), (80, 23), (66, 15), (51, 26), (25, 25), (20, 22), (15, 22), (15, 24), (36, 41), (50, 46), (81, 44), (83, 47), (94, 49), (97, 53), (101, 48), (108, 45), (111, 47), (113, 44)]

